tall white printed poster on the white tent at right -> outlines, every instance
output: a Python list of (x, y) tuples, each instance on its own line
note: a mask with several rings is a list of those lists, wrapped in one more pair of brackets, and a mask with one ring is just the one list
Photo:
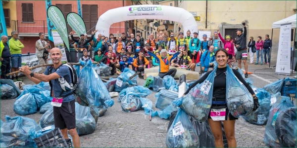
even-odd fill
[(291, 60), (291, 27), (292, 24), (281, 25), (276, 69), (278, 74), (290, 74)]

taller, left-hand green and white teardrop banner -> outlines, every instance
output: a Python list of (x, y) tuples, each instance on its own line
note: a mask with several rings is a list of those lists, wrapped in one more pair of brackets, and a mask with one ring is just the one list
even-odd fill
[(49, 6), (48, 10), (48, 18), (52, 22), (53, 26), (56, 28), (57, 32), (59, 33), (60, 37), (66, 44), (68, 51), (69, 49), (69, 39), (67, 33), (67, 25), (66, 20), (62, 11), (55, 5)]

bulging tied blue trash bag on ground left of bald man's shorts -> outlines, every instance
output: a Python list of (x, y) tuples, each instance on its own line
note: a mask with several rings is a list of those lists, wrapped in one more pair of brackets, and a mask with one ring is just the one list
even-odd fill
[(33, 114), (44, 104), (51, 102), (49, 82), (25, 85), (24, 91), (16, 98), (13, 111), (19, 115)]

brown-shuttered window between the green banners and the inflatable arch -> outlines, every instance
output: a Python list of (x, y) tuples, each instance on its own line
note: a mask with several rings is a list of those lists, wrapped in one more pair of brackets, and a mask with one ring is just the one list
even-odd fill
[(98, 5), (97, 4), (83, 4), (83, 19), (86, 24), (86, 29), (88, 34), (91, 34), (95, 31), (95, 26), (97, 25), (98, 21)]

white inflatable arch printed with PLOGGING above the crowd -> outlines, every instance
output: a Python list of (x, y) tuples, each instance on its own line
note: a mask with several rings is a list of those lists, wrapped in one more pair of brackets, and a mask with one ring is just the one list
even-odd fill
[[(198, 26), (194, 16), (187, 10), (179, 7), (166, 5), (131, 5), (114, 8), (103, 13), (97, 22), (96, 36), (101, 34), (109, 37), (109, 28), (113, 23), (137, 20), (137, 19), (159, 19), (179, 22), (184, 31), (198, 32)], [(186, 35), (186, 33), (184, 33)]]

